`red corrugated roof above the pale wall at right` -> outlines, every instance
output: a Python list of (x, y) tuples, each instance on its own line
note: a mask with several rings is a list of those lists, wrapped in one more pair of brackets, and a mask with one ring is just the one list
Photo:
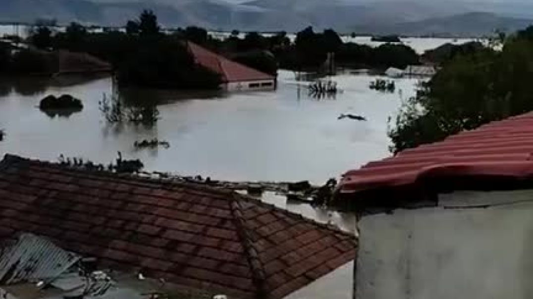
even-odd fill
[(533, 112), (407, 149), (348, 171), (341, 193), (405, 187), (424, 177), (533, 176)]

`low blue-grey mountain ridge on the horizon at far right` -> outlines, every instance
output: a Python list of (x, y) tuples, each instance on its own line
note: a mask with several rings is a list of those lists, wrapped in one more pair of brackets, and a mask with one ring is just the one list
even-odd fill
[(532, 19), (499, 17), (494, 13), (472, 12), (451, 17), (431, 18), (385, 26), (356, 26), (354, 30), (374, 34), (482, 36), (495, 30), (507, 32), (533, 24)]

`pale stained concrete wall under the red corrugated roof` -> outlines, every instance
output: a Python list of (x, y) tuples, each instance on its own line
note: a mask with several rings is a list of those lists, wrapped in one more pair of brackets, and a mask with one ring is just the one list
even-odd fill
[(357, 298), (533, 298), (533, 192), (442, 198), (443, 206), (497, 205), (364, 217)]

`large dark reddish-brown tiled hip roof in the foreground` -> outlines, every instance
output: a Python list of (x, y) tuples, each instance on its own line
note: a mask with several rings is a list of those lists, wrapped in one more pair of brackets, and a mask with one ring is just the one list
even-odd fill
[(243, 298), (284, 297), (356, 255), (353, 236), (235, 192), (6, 155), (0, 239), (22, 231), (120, 270)]

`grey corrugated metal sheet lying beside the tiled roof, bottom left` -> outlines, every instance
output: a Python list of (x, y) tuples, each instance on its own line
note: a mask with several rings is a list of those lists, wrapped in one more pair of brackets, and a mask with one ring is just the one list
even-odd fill
[(20, 235), (17, 243), (2, 249), (0, 282), (52, 281), (79, 260), (79, 256), (31, 233)]

